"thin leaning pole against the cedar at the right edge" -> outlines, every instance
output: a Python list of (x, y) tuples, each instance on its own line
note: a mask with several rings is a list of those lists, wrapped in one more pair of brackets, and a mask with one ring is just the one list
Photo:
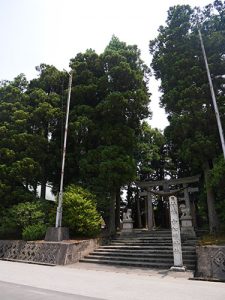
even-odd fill
[(203, 53), (203, 57), (204, 57), (204, 61), (205, 61), (206, 72), (207, 72), (207, 76), (208, 76), (208, 80), (209, 80), (209, 86), (210, 86), (210, 91), (211, 91), (211, 96), (212, 96), (212, 102), (213, 102), (213, 106), (214, 106), (214, 110), (215, 110), (217, 126), (218, 126), (218, 129), (219, 129), (220, 141), (221, 141), (222, 149), (223, 149), (223, 156), (224, 156), (224, 159), (225, 159), (225, 142), (224, 142), (224, 135), (223, 135), (223, 127), (221, 125), (220, 114), (219, 114), (219, 110), (218, 110), (218, 106), (217, 106), (217, 102), (216, 102), (216, 96), (215, 96), (215, 92), (214, 92), (214, 88), (213, 88), (213, 84), (212, 84), (210, 71), (209, 71), (209, 65), (208, 65), (208, 61), (207, 61), (205, 47), (204, 47), (204, 43), (203, 43), (203, 39), (202, 39), (201, 30), (200, 30), (199, 27), (198, 27), (198, 34), (199, 34), (199, 39), (200, 39), (200, 42), (201, 42), (201, 47), (202, 47), (202, 53)]

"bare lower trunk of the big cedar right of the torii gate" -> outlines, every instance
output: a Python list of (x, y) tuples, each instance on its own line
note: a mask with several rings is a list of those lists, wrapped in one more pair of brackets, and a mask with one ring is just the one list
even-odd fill
[(209, 185), (209, 162), (203, 164), (203, 172), (205, 178), (205, 186), (207, 193), (207, 206), (208, 206), (208, 217), (209, 217), (209, 231), (215, 233), (219, 229), (218, 217), (215, 209), (215, 194), (213, 189)]

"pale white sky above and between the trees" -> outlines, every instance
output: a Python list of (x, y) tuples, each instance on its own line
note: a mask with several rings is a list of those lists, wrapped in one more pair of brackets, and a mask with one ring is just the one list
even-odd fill
[[(92, 48), (102, 53), (112, 35), (137, 45), (150, 65), (149, 41), (165, 24), (170, 6), (204, 6), (212, 0), (0, 0), (0, 80), (24, 73), (37, 76), (35, 66), (69, 69), (77, 53)], [(161, 130), (168, 124), (159, 107), (159, 82), (150, 78), (149, 123)]]

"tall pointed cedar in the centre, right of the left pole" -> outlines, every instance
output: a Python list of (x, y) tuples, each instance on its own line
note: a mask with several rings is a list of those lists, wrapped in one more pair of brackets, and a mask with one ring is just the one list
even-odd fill
[(75, 75), (68, 174), (108, 199), (105, 219), (112, 233), (116, 194), (135, 177), (137, 135), (149, 116), (148, 68), (136, 46), (116, 37), (101, 55), (87, 50), (70, 65)]

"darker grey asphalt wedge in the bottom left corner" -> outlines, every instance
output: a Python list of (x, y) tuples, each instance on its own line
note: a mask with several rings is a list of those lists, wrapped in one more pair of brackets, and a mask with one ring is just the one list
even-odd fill
[(102, 300), (0, 281), (2, 300)]

